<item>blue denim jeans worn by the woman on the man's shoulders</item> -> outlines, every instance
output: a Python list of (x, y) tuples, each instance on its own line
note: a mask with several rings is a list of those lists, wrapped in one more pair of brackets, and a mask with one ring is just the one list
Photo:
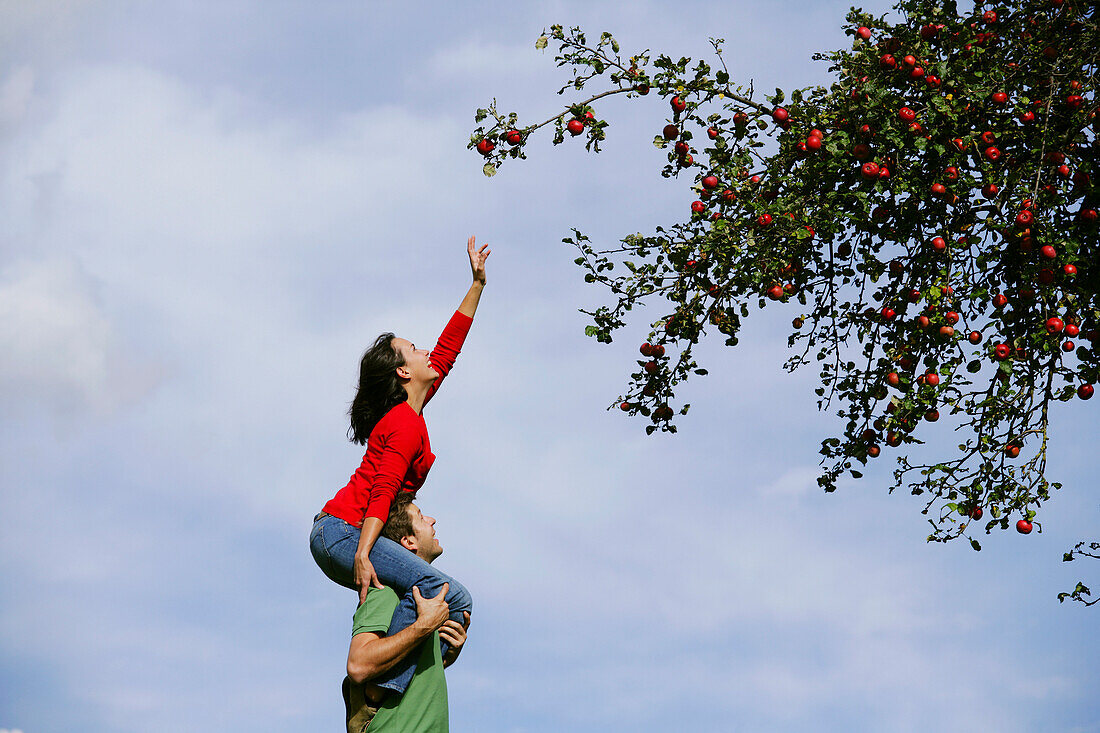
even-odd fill
[[(359, 529), (339, 517), (319, 514), (314, 521), (314, 530), (309, 535), (309, 549), (314, 560), (330, 580), (344, 588), (359, 591), (355, 584), (354, 565), (355, 550), (359, 548)], [(371, 548), (371, 565), (378, 575), (378, 580), (389, 586), (402, 595), (400, 603), (394, 611), (389, 622), (387, 636), (392, 636), (416, 621), (416, 601), (413, 598), (413, 587), (420, 589), (424, 598), (435, 598), (443, 583), (450, 583), (447, 591), (447, 604), (450, 615), (460, 624), (464, 622), (462, 612), (473, 610), (473, 599), (470, 591), (450, 576), (447, 576), (421, 560), (411, 551), (386, 537), (378, 537)], [(448, 645), (440, 642), (443, 652)], [(405, 692), (413, 672), (416, 671), (416, 655), (406, 655), (385, 677), (372, 680), (375, 685), (387, 688), (398, 694)]]

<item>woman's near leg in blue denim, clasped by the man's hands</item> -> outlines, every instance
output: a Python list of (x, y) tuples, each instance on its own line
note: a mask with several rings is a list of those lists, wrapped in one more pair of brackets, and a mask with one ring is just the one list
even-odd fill
[[(436, 598), (442, 589), (443, 583), (449, 583), (447, 591), (447, 604), (450, 609), (450, 617), (460, 624), (464, 622), (463, 611), (472, 612), (473, 600), (470, 591), (462, 583), (450, 576), (442, 573), (422, 559), (414, 555), (408, 549), (386, 537), (378, 537), (371, 549), (371, 565), (378, 573), (378, 579), (397, 591), (402, 595), (400, 603), (394, 611), (393, 620), (389, 623), (387, 635), (393, 635), (409, 626), (416, 621), (416, 600), (413, 598), (413, 587), (420, 589), (424, 598)], [(447, 652), (447, 644), (442, 644), (443, 652)], [(386, 678), (374, 680), (376, 685), (404, 692), (413, 679), (416, 671), (416, 657), (409, 655), (402, 664), (394, 667)]]

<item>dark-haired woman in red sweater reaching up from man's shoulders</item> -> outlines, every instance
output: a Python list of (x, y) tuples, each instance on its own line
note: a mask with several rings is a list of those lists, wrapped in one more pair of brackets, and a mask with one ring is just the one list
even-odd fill
[[(425, 598), (435, 598), (449, 583), (447, 602), (451, 619), (463, 623), (472, 608), (461, 583), (435, 570), (397, 543), (381, 537), (382, 525), (398, 491), (416, 492), (424, 485), (436, 457), (421, 414), (454, 364), (482, 289), (485, 287), (487, 244), (481, 249), (471, 237), (466, 243), (473, 283), (459, 309), (447, 324), (429, 353), (393, 333), (383, 333), (360, 361), (359, 387), (351, 409), (349, 437), (366, 445), (359, 470), (337, 492), (314, 521), (309, 548), (326, 576), (359, 591), (360, 603), (373, 586), (385, 583), (404, 593), (394, 612), (388, 634), (416, 620), (414, 586)], [(410, 655), (377, 683), (404, 692), (416, 669)]]

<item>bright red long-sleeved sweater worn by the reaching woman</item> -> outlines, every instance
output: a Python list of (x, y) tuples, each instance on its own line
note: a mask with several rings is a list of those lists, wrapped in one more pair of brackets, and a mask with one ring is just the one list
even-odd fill
[[(472, 322), (470, 316), (455, 311), (443, 328), (431, 350), (431, 368), (439, 372), (439, 379), (428, 390), (425, 405), (454, 365)], [(371, 430), (363, 462), (348, 485), (324, 505), (324, 512), (356, 527), (362, 527), (369, 516), (385, 522), (397, 492), (416, 493), (435, 460), (424, 415), (403, 402), (383, 415)]]

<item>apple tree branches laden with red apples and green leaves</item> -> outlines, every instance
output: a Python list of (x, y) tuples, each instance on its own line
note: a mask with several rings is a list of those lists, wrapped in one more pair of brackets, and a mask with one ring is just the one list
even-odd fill
[[(486, 175), (526, 157), (537, 133), (600, 151), (596, 103), (620, 95), (652, 113), (660, 173), (695, 200), (682, 219), (613, 245), (580, 231), (584, 277), (609, 291), (586, 310), (609, 342), (636, 309), (662, 316), (613, 407), (647, 433), (675, 431), (675, 389), (705, 374), (692, 348), (716, 331), (736, 346), (744, 318), (792, 311), (785, 369), (820, 370), (818, 407), (843, 431), (822, 441), (821, 486), (894, 452), (890, 491), (927, 499), (930, 540), (1014, 527), (1028, 534), (1060, 484), (1047, 480), (1048, 411), (1087, 401), (1100, 376), (1100, 117), (1096, 6), (900, 0), (895, 20), (853, 9), (850, 48), (814, 58), (828, 87), (761, 96), (738, 84), (713, 39), (708, 61), (625, 55), (603, 33), (554, 25), (582, 97), (524, 124), (496, 102), (470, 146)], [(891, 17), (894, 17), (891, 15)], [(712, 336), (712, 338), (714, 338)], [(1091, 405), (1090, 405), (1091, 406)], [(1084, 407), (1084, 406), (1082, 406)], [(958, 452), (911, 461), (941, 413)], [(1081, 543), (1064, 559), (1096, 557)], [(1078, 584), (1071, 598), (1090, 591)]]

